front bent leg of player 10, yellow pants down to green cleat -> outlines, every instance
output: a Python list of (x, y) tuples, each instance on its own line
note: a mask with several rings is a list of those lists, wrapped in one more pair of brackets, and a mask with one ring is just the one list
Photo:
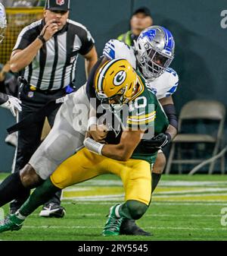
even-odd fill
[[(126, 167), (127, 166), (127, 167)], [(126, 202), (110, 208), (103, 235), (122, 235), (120, 227), (124, 220), (138, 220), (148, 209), (151, 201), (151, 166), (145, 160), (128, 160), (120, 172), (126, 192)], [(115, 171), (116, 172), (116, 171)], [(117, 173), (116, 173), (117, 174)], [(128, 222), (129, 226), (129, 222)], [(132, 230), (124, 235), (145, 235), (144, 231)], [(148, 233), (146, 235), (151, 235)]]

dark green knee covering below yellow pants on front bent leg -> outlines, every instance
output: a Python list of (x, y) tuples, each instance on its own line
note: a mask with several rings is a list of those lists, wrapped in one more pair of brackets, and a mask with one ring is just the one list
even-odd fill
[(148, 205), (140, 201), (129, 200), (126, 201), (127, 208), (133, 220), (138, 220), (148, 210)]

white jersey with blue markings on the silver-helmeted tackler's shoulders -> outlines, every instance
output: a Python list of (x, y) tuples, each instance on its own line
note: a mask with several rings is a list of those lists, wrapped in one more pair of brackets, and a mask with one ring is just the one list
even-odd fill
[[(135, 50), (119, 40), (108, 41), (105, 44), (103, 55), (110, 59), (125, 58), (133, 68), (136, 66)], [(179, 78), (173, 68), (167, 68), (160, 77), (154, 80), (146, 79), (146, 81), (157, 99), (162, 99), (175, 93)]]

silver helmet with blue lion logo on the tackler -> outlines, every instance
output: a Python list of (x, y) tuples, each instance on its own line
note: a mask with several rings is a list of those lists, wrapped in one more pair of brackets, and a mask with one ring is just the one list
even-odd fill
[(134, 43), (139, 69), (146, 78), (159, 77), (173, 61), (173, 35), (164, 27), (148, 27)]

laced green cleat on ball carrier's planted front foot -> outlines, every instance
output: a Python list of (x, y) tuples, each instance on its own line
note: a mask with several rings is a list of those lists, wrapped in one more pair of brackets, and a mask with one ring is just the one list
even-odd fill
[(120, 226), (124, 218), (118, 218), (115, 214), (115, 209), (118, 205), (119, 204), (115, 204), (110, 207), (110, 213), (104, 226), (102, 235), (120, 235)]

